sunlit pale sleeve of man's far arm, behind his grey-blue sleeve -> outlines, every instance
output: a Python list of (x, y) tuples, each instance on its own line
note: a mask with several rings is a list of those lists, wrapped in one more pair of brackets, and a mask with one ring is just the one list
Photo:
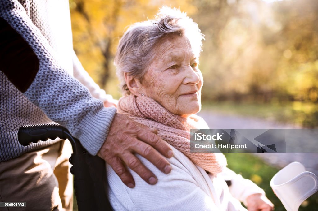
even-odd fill
[(106, 94), (105, 90), (101, 89), (94, 80), (86, 72), (78, 57), (73, 51), (73, 73), (74, 77), (79, 80), (84, 86), (86, 86), (94, 98), (100, 99), (103, 102), (113, 101), (113, 97), (110, 94)]

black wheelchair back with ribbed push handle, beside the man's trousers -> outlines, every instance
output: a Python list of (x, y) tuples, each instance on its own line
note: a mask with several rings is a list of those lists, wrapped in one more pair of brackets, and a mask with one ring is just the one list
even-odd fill
[(68, 139), (72, 144), (73, 153), (69, 162), (73, 165), (70, 171), (74, 175), (79, 211), (113, 210), (106, 194), (105, 161), (90, 155), (65, 127), (59, 124), (25, 125), (18, 131), (18, 140), (23, 146), (57, 137)]

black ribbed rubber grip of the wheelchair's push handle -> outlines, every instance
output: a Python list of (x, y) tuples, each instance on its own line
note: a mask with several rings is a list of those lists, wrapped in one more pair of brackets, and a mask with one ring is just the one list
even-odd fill
[(66, 139), (65, 133), (68, 130), (60, 124), (41, 124), (41, 125), (24, 125), (18, 131), (18, 140), (21, 145), (27, 146), (38, 141), (55, 139), (57, 137)]

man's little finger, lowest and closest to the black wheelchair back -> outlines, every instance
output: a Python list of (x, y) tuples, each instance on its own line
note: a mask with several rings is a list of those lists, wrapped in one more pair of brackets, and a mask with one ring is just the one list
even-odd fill
[(119, 157), (112, 157), (107, 163), (113, 168), (115, 173), (120, 177), (121, 181), (127, 187), (129, 188), (135, 187), (135, 181), (133, 176), (131, 176), (130, 172), (121, 162), (121, 159)]

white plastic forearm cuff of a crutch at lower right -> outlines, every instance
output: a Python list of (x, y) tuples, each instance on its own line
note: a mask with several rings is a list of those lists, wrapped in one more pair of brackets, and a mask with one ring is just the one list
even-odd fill
[(318, 190), (318, 178), (301, 163), (293, 162), (273, 176), (270, 186), (287, 211), (297, 211)]

